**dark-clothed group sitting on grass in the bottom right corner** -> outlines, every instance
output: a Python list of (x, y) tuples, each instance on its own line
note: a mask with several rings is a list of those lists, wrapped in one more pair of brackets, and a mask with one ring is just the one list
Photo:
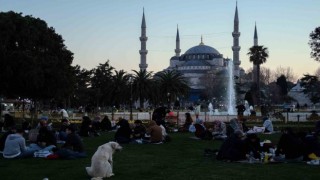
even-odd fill
[(221, 145), (218, 160), (257, 162), (300, 162), (319, 165), (320, 143), (317, 135), (295, 133), (286, 128), (277, 144), (262, 142), (256, 133), (244, 134), (236, 130)]

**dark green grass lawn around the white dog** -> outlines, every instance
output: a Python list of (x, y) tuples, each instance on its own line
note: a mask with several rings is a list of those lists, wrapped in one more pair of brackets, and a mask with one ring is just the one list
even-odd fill
[[(90, 179), (85, 167), (96, 148), (113, 139), (114, 133), (84, 138), (88, 157), (77, 160), (0, 159), (2, 180), (81, 180)], [(114, 154), (113, 180), (232, 180), (232, 179), (319, 179), (320, 166), (306, 163), (243, 164), (227, 163), (205, 157), (204, 149), (218, 149), (220, 141), (190, 139), (189, 133), (173, 133), (172, 141), (161, 145), (126, 144)], [(261, 140), (273, 142), (279, 135), (261, 135)]]

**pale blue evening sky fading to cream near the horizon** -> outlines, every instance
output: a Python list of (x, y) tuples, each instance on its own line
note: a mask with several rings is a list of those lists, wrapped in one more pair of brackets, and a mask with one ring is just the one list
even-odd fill
[(320, 63), (310, 57), (309, 34), (320, 26), (319, 0), (0, 0), (0, 11), (21, 12), (47, 22), (74, 53), (73, 65), (85, 69), (109, 60), (117, 70), (139, 70), (141, 21), (147, 25), (148, 71), (169, 66), (175, 55), (177, 26), (181, 54), (199, 45), (232, 58), (233, 20), (238, 4), (241, 67), (252, 67), (247, 55), (258, 44), (269, 50), (262, 67), (291, 68), (297, 78), (314, 74)]

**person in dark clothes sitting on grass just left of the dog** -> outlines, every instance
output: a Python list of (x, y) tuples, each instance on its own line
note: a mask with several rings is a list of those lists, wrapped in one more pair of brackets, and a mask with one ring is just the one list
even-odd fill
[(83, 142), (80, 136), (76, 133), (74, 125), (69, 125), (66, 128), (67, 139), (61, 149), (55, 152), (62, 159), (76, 159), (87, 157), (84, 150)]

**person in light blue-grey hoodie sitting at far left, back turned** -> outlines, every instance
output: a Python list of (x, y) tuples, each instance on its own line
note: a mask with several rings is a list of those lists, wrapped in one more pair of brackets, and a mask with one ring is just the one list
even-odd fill
[(9, 134), (3, 149), (3, 157), (12, 158), (27, 158), (33, 157), (36, 149), (26, 146), (26, 140), (23, 137), (24, 130), (17, 129), (15, 134)]

